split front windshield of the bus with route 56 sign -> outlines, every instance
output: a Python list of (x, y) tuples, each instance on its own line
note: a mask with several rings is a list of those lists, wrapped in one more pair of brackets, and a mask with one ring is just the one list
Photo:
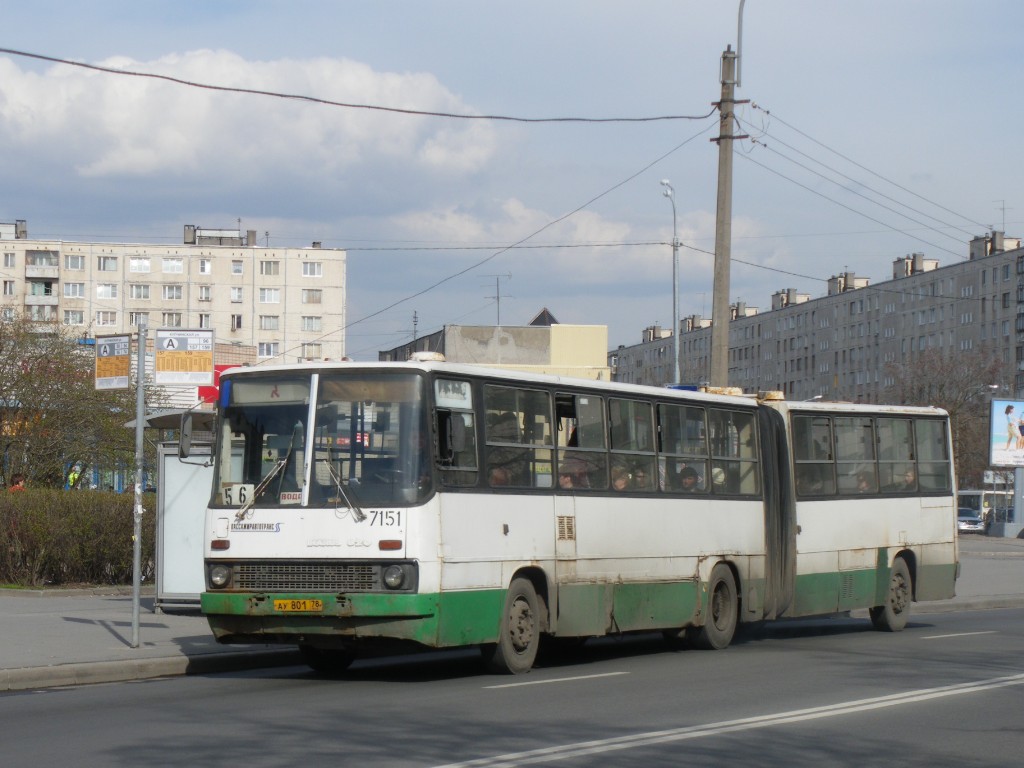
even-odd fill
[(416, 374), (240, 378), (222, 399), (214, 506), (402, 506), (431, 490)]

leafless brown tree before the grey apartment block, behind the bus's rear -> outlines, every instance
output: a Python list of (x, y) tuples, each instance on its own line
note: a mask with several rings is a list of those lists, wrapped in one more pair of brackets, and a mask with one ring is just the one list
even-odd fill
[(979, 486), (988, 467), (989, 402), (1013, 375), (1009, 366), (990, 349), (932, 348), (889, 366), (886, 374), (893, 379), (884, 393), (886, 401), (937, 406), (949, 414), (958, 482)]

